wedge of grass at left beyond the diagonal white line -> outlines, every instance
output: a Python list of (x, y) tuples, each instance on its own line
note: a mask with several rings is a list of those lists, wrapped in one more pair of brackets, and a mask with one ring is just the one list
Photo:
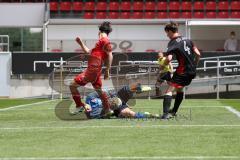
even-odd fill
[(0, 108), (46, 101), (46, 99), (0, 99)]

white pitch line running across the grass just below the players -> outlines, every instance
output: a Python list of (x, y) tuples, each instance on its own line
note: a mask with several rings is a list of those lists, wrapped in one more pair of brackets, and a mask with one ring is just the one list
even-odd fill
[(86, 128), (168, 128), (168, 127), (240, 127), (239, 125), (127, 125), (127, 126), (73, 126), (73, 127), (2, 127), (0, 130), (34, 130), (34, 129), (86, 129)]

